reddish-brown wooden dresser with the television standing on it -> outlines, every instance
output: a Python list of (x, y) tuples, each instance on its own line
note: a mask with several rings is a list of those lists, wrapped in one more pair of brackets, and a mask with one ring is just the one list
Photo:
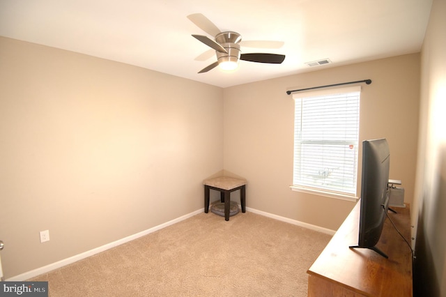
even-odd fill
[[(390, 218), (410, 243), (410, 206), (392, 209)], [(413, 296), (412, 252), (388, 218), (376, 247), (389, 259), (348, 248), (357, 244), (359, 218), (360, 201), (307, 271), (308, 296)]]

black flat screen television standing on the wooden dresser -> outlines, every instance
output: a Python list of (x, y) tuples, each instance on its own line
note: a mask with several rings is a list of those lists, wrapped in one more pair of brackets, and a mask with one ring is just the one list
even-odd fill
[(360, 226), (357, 245), (350, 248), (368, 248), (387, 258), (376, 248), (389, 209), (390, 150), (386, 139), (362, 142), (362, 181), (360, 197)]

